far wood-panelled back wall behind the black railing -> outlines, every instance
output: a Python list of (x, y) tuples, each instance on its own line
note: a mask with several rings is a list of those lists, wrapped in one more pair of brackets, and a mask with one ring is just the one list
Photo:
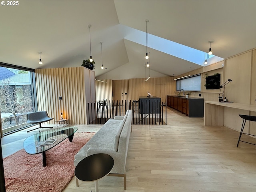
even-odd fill
[[(175, 81), (173, 77), (150, 78), (146, 82), (145, 80), (145, 78), (134, 78), (102, 80), (107, 83), (96, 81), (96, 100), (106, 97), (110, 101), (138, 100), (140, 96), (147, 96), (149, 91), (152, 95), (161, 97), (162, 102), (166, 102), (166, 95), (174, 94)], [(112, 90), (110, 90), (111, 87)]]

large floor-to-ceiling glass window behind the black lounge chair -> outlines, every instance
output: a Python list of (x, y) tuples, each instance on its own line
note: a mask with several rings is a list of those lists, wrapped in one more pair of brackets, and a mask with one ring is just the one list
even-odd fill
[(30, 126), (26, 113), (35, 111), (34, 70), (0, 64), (1, 133)]

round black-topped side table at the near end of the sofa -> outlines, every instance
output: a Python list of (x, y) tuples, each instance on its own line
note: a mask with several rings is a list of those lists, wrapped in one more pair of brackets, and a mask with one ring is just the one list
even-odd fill
[(75, 176), (81, 181), (94, 181), (95, 192), (98, 192), (98, 180), (108, 175), (113, 166), (114, 159), (110, 155), (104, 153), (93, 154), (77, 164)]

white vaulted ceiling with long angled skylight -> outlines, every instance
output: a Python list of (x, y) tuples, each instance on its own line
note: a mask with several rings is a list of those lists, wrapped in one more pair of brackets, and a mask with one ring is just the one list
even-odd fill
[(91, 24), (96, 76), (104, 74), (102, 62), (108, 71), (129, 63), (144, 67), (148, 19), (150, 69), (177, 76), (204, 65), (208, 41), (218, 58), (255, 48), (255, 7), (255, 0), (22, 0), (0, 6), (0, 62), (81, 66), (90, 58)]

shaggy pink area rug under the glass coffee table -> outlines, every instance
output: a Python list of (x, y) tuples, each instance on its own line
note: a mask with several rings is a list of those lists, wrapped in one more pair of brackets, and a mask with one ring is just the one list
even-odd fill
[(24, 149), (4, 158), (6, 192), (61, 192), (74, 176), (74, 156), (95, 133), (75, 133), (42, 154), (30, 155)]

